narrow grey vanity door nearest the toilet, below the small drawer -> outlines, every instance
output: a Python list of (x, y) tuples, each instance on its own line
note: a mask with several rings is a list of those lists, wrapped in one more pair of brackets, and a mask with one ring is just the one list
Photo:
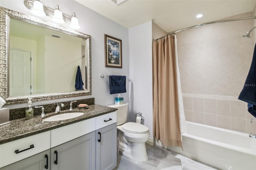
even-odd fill
[(96, 170), (112, 170), (117, 164), (116, 123), (96, 130)]

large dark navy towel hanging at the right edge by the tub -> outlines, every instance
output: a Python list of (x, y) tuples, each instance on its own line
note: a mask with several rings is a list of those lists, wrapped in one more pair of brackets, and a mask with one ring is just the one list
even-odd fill
[(256, 117), (256, 44), (252, 64), (238, 99), (247, 102), (248, 112)]

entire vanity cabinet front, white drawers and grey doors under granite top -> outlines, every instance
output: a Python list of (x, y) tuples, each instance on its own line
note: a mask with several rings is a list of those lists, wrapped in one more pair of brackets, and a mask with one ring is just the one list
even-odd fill
[(1, 144), (0, 170), (112, 170), (116, 147), (114, 111)]

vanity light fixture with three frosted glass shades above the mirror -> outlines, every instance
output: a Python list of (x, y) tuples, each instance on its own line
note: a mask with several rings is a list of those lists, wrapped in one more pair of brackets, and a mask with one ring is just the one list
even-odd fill
[[(39, 4), (39, 5), (38, 5)], [(63, 14), (60, 9), (59, 5), (56, 5), (55, 9), (49, 8), (47, 6), (44, 6), (42, 2), (39, 0), (24, 0), (24, 5), (31, 10), (31, 12), (35, 9), (40, 9), (41, 13), (43, 12), (45, 15), (39, 15), (34, 12), (32, 12), (36, 16), (48, 16), (52, 18), (53, 22), (56, 23), (66, 23), (70, 25), (70, 28), (72, 29), (80, 29), (80, 26), (78, 24), (78, 18), (76, 18), (76, 14), (73, 12), (72, 16), (68, 16), (66, 14)], [(37, 7), (41, 6), (41, 7)]]

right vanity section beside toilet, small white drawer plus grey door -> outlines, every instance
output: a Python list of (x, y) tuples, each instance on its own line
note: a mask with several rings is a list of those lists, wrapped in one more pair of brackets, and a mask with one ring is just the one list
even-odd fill
[(116, 112), (96, 117), (96, 170), (112, 170), (117, 164)]

